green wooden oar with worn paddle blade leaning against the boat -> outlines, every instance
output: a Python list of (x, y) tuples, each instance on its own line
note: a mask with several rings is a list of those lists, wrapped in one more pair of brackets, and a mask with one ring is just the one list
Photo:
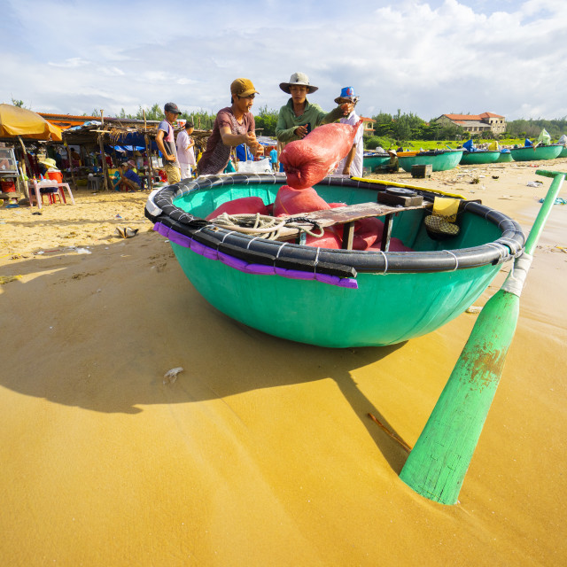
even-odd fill
[(401, 480), (432, 501), (457, 502), (514, 337), (520, 293), (532, 264), (532, 252), (566, 175), (545, 170), (536, 173), (554, 180), (524, 253), (514, 261), (501, 289), (478, 315), (447, 385), (400, 473)]

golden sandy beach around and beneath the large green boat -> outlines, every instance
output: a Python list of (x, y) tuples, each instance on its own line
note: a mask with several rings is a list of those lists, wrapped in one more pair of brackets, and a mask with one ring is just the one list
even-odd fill
[[(480, 198), (527, 234), (551, 182), (533, 165), (567, 171), (382, 178)], [(0, 208), (0, 564), (564, 565), (567, 206), (540, 238), (460, 502), (443, 506), (400, 481), (407, 453), (368, 414), (413, 446), (477, 315), (391, 347), (270, 337), (195, 291), (147, 192), (74, 198)], [(136, 237), (116, 236), (126, 226)]]

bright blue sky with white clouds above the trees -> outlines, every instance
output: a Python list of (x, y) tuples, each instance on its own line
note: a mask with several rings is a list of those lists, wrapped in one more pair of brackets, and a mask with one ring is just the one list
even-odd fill
[[(159, 6), (159, 7), (157, 7)], [(341, 87), (370, 116), (567, 115), (565, 0), (0, 0), (0, 102), (115, 115), (174, 101), (216, 113), (248, 77), (260, 106), (307, 73), (330, 110)]]

